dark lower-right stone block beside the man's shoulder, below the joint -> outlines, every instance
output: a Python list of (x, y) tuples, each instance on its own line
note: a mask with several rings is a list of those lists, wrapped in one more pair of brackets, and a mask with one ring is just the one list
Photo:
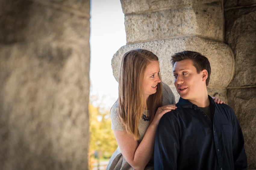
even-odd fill
[(256, 168), (256, 88), (228, 89), (229, 106), (236, 113), (245, 138), (248, 169)]

